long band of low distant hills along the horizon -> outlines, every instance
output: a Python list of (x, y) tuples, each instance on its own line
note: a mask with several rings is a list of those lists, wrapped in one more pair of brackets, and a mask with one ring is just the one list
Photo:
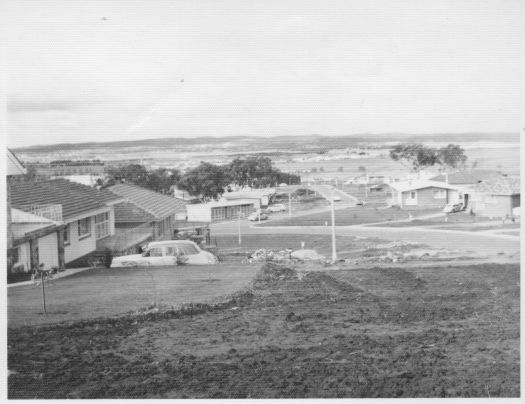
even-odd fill
[(147, 148), (177, 148), (181, 146), (192, 145), (221, 145), (235, 143), (236, 146), (249, 145), (250, 148), (260, 149), (274, 149), (293, 147), (295, 150), (301, 148), (337, 148), (337, 147), (352, 147), (358, 143), (373, 143), (373, 142), (519, 142), (519, 133), (437, 133), (437, 134), (406, 134), (406, 133), (384, 133), (384, 134), (355, 134), (348, 136), (322, 136), (322, 135), (308, 135), (308, 136), (275, 136), (275, 137), (258, 137), (258, 136), (226, 136), (226, 137), (172, 137), (172, 138), (157, 138), (157, 139), (142, 139), (142, 140), (128, 140), (128, 141), (113, 141), (113, 142), (82, 142), (82, 143), (58, 143), (51, 145), (36, 145), (29, 147), (21, 147), (13, 149), (16, 152), (25, 153), (45, 153), (52, 151), (68, 151), (79, 149), (107, 149), (107, 148), (132, 148), (132, 147), (147, 147)]

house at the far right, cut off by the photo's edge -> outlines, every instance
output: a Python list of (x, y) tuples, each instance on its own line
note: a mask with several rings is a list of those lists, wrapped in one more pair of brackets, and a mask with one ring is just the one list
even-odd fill
[(513, 216), (520, 206), (520, 179), (500, 177), (480, 182), (472, 187), (471, 209), (479, 216), (505, 218)]

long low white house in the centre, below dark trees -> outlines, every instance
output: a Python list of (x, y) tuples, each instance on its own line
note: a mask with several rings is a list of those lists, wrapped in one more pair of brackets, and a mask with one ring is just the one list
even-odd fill
[(188, 220), (195, 222), (220, 222), (224, 220), (248, 217), (261, 208), (259, 199), (221, 199), (208, 203), (187, 205)]

